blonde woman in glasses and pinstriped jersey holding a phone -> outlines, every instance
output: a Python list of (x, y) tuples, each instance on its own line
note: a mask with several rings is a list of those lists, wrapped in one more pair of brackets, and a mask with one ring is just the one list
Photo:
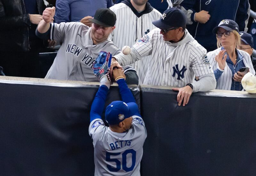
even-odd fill
[(212, 32), (216, 34), (219, 48), (207, 55), (217, 81), (216, 89), (243, 90), (241, 80), (245, 73), (239, 70), (248, 67), (253, 75), (255, 70), (250, 55), (237, 49), (241, 43), (238, 25), (231, 19), (224, 19)]

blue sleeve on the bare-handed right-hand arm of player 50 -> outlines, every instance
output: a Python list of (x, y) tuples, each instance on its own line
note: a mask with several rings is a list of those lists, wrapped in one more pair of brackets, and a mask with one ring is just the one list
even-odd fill
[[(130, 103), (130, 102), (134, 102), (136, 103), (133, 95), (132, 95), (132, 92), (130, 91), (130, 89), (128, 88), (126, 82), (124, 79), (119, 79), (116, 81), (116, 83), (118, 84), (118, 87), (119, 87), (119, 92), (121, 94), (121, 97), (122, 97), (122, 100), (125, 102), (125, 103)], [(136, 114), (134, 115), (137, 115), (137, 116), (140, 116), (140, 112), (138, 111)]]

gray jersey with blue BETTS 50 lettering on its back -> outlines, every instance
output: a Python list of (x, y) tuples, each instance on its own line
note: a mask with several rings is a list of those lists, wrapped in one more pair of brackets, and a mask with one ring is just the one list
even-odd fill
[(89, 126), (94, 146), (95, 176), (139, 176), (143, 143), (147, 137), (144, 121), (132, 116), (132, 128), (116, 133), (95, 119)]

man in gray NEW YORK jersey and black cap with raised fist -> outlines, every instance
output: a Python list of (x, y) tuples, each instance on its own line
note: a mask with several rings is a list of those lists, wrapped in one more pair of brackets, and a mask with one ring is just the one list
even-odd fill
[[(36, 30), (36, 35), (42, 39), (62, 42), (45, 78), (97, 82), (92, 66), (100, 51), (112, 54), (122, 52), (108, 39), (115, 29), (115, 13), (107, 8), (98, 9), (92, 19), (92, 27), (80, 22), (50, 23), (54, 13), (55, 7), (46, 8), (43, 12), (44, 20)], [(138, 84), (138, 76), (131, 66), (124, 67), (124, 71), (127, 84)]]

